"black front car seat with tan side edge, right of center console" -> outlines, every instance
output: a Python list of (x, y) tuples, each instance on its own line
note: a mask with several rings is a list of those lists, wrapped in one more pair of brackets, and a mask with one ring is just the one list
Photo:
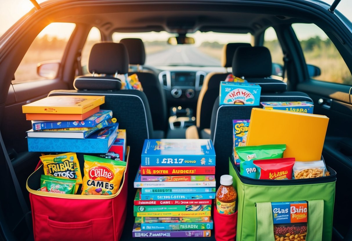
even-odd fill
[[(248, 43), (229, 43), (224, 45), (222, 49), (221, 65), (227, 70), (228, 67), (232, 67), (232, 60), (235, 51), (241, 46), (251, 46)], [(200, 138), (210, 137), (210, 117), (211, 107), (217, 96), (219, 96), (219, 85), (220, 81), (224, 81), (228, 76), (228, 72), (218, 73), (210, 72), (204, 79), (202, 89), (200, 90), (198, 101), (197, 101), (197, 113), (196, 113), (196, 127)], [(195, 126), (191, 127), (195, 131)], [(188, 130), (187, 132), (189, 132)], [(193, 132), (192, 131), (192, 132)]]

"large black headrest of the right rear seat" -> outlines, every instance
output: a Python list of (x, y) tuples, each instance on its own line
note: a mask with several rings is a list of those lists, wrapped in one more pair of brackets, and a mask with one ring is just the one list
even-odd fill
[(265, 78), (271, 76), (271, 55), (263, 46), (238, 47), (232, 61), (232, 73), (237, 77)]

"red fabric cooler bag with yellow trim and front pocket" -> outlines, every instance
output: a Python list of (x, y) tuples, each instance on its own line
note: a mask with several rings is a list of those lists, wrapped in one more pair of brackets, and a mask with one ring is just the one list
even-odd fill
[[(38, 191), (43, 165), (27, 179), (34, 240), (119, 240), (127, 210), (128, 156), (114, 195), (53, 194)], [(81, 165), (83, 167), (84, 165)], [(83, 170), (81, 170), (83, 173)]]

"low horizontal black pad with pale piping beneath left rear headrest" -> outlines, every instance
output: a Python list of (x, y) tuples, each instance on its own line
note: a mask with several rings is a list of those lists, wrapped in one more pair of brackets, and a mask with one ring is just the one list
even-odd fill
[(83, 76), (74, 80), (76, 90), (120, 90), (121, 80), (106, 76)]

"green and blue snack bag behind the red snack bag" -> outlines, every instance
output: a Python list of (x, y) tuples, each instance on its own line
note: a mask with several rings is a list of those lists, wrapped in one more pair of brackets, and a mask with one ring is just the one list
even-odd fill
[(257, 166), (253, 160), (282, 158), (286, 144), (236, 146), (235, 150), (240, 158), (240, 174), (245, 177), (259, 179)]

